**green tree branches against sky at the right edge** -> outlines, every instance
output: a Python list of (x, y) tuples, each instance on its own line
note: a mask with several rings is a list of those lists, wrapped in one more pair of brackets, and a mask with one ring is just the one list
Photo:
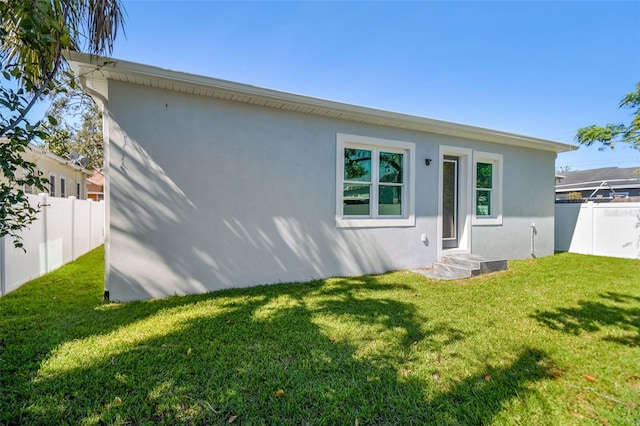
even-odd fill
[(590, 146), (596, 142), (603, 146), (615, 148), (618, 143), (629, 144), (632, 148), (640, 149), (640, 82), (636, 83), (636, 90), (627, 93), (620, 101), (620, 108), (628, 108), (633, 114), (630, 124), (609, 123), (605, 126), (592, 124), (578, 129), (576, 142)]

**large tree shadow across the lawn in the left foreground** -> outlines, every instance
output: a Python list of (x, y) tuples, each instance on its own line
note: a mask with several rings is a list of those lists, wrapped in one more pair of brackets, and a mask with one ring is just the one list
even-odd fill
[(446, 387), (402, 374), (466, 338), (413, 291), (358, 277), (128, 304), (18, 295), (22, 315), (0, 323), (0, 423), (481, 424), (549, 377), (536, 349)]

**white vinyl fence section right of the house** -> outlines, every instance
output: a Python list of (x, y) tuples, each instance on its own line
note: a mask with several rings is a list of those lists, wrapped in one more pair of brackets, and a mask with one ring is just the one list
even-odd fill
[(555, 249), (640, 259), (640, 203), (556, 204)]

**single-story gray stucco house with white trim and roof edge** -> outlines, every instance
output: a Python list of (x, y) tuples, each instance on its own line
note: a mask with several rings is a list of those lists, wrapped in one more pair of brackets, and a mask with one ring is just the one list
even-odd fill
[(111, 300), (553, 254), (567, 144), (72, 53)]

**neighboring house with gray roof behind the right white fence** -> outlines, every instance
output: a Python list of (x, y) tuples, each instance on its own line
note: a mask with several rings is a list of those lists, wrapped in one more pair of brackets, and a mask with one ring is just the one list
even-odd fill
[(583, 199), (640, 197), (640, 167), (604, 167), (556, 175), (556, 201), (576, 192)]

